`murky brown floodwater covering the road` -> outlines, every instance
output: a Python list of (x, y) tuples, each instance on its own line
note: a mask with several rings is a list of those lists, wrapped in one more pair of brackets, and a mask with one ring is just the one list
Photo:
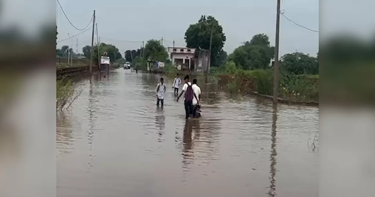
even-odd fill
[(276, 111), (198, 81), (202, 117), (186, 121), (173, 79), (156, 108), (159, 77), (118, 69), (81, 80), (57, 116), (59, 197), (318, 196), (317, 107)]

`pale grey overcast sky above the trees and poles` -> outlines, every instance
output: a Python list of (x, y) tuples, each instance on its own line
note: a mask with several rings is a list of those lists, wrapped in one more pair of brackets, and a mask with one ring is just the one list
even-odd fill
[[(140, 47), (141, 41), (162, 37), (169, 46), (175, 40), (176, 47), (185, 47), (184, 33), (201, 15), (212, 15), (222, 25), (226, 35), (224, 50), (228, 53), (257, 33), (266, 33), (275, 45), (275, 0), (60, 0), (60, 3), (78, 28), (86, 27), (95, 9), (101, 42), (114, 44), (122, 54)], [(318, 0), (283, 0), (282, 9), (288, 18), (318, 30)], [(68, 23), (60, 8), (57, 9), (57, 26), (58, 40), (68, 38), (68, 33), (80, 33)], [(296, 50), (317, 53), (318, 33), (298, 27), (285, 18), (281, 18), (280, 26), (281, 55)], [(79, 51), (91, 45), (90, 30), (77, 38)], [(62, 45), (73, 45), (76, 49), (77, 39), (58, 43), (58, 47)]]

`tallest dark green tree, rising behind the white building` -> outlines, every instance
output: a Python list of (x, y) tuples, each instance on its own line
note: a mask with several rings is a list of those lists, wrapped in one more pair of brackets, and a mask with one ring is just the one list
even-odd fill
[(186, 47), (208, 50), (210, 48), (212, 29), (211, 66), (219, 63), (219, 53), (226, 41), (223, 28), (219, 22), (212, 16), (206, 17), (205, 15), (202, 15), (198, 23), (191, 24), (185, 32)]

